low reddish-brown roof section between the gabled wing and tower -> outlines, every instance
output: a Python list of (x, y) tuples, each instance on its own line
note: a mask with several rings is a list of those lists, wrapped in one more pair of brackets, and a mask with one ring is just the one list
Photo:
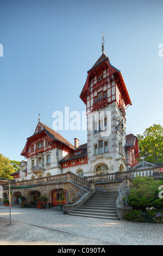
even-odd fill
[[(81, 153), (76, 155), (78, 151), (81, 151)], [(73, 159), (78, 159), (84, 156), (87, 156), (87, 143), (80, 145), (76, 150), (73, 151), (73, 153), (68, 154), (63, 159), (61, 159), (59, 163), (66, 162)]]

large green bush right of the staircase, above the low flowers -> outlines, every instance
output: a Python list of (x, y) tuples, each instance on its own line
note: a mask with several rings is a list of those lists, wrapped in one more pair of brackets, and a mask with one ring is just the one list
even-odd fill
[(160, 185), (163, 185), (163, 180), (137, 176), (129, 193), (130, 207), (135, 210), (145, 210), (151, 206), (156, 209), (163, 208), (163, 198), (159, 198)]

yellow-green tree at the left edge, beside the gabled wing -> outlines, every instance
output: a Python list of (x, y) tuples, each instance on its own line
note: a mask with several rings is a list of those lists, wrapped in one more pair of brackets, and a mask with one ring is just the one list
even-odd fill
[(0, 154), (0, 178), (12, 180), (14, 178), (10, 176), (10, 174), (14, 172), (15, 172), (15, 168), (14, 166), (12, 166), (9, 158)]

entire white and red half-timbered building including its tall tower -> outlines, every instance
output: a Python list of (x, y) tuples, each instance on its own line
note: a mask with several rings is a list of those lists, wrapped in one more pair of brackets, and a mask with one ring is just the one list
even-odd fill
[(13, 174), (16, 181), (67, 172), (80, 177), (110, 174), (136, 165), (137, 139), (126, 136), (126, 109), (131, 100), (121, 71), (111, 65), (104, 52), (87, 71), (80, 99), (86, 106), (87, 143), (80, 145), (74, 138), (72, 145), (39, 117), (21, 153), (26, 161), (21, 162), (20, 173)]

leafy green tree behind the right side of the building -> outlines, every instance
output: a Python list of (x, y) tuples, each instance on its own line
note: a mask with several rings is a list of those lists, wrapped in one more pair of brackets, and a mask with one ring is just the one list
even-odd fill
[(151, 163), (163, 162), (163, 127), (154, 124), (147, 128), (143, 135), (137, 135), (139, 140), (140, 161), (145, 157), (145, 161)]

